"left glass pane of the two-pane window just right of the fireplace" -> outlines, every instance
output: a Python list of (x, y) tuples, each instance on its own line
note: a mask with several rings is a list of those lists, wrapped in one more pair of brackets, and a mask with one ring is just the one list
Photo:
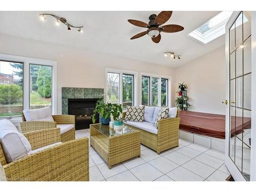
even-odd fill
[(110, 103), (119, 103), (119, 74), (108, 73), (106, 100)]

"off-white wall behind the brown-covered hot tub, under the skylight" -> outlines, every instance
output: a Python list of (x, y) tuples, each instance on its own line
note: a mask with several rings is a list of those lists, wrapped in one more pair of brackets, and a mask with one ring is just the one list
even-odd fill
[[(188, 89), (189, 111), (225, 114), (225, 47), (175, 69), (175, 86), (185, 82)], [(177, 94), (175, 95), (175, 98)]]

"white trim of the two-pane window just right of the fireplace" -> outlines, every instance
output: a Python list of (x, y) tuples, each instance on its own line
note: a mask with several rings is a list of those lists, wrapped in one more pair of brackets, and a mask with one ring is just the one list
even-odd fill
[(122, 76), (123, 74), (133, 75), (133, 104), (134, 106), (138, 106), (138, 72), (135, 71), (127, 71), (127, 70), (120, 70), (120, 69), (105, 69), (105, 100), (106, 98), (106, 90), (108, 89), (108, 73), (118, 73), (119, 74), (119, 104), (122, 104), (123, 92), (122, 90), (123, 83), (122, 83)]

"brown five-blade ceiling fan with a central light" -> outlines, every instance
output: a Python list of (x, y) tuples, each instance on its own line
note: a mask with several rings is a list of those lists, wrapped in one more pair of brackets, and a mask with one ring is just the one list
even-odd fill
[(141, 22), (140, 20), (133, 20), (128, 19), (128, 22), (138, 26), (138, 27), (144, 27), (148, 28), (146, 31), (138, 33), (137, 35), (134, 35), (131, 39), (136, 39), (139, 37), (144, 36), (145, 34), (148, 34), (151, 36), (153, 42), (156, 44), (160, 42), (161, 40), (161, 32), (165, 33), (176, 33), (179, 31), (182, 31), (184, 27), (179, 25), (163, 25), (167, 20), (169, 20), (170, 16), (172, 16), (173, 11), (162, 11), (158, 15), (152, 14), (150, 15), (150, 22), (148, 24)]

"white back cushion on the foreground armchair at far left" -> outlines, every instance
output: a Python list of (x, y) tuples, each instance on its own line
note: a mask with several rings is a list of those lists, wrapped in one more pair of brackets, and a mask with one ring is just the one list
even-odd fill
[(25, 156), (31, 150), (28, 139), (8, 119), (0, 120), (0, 142), (7, 163)]

